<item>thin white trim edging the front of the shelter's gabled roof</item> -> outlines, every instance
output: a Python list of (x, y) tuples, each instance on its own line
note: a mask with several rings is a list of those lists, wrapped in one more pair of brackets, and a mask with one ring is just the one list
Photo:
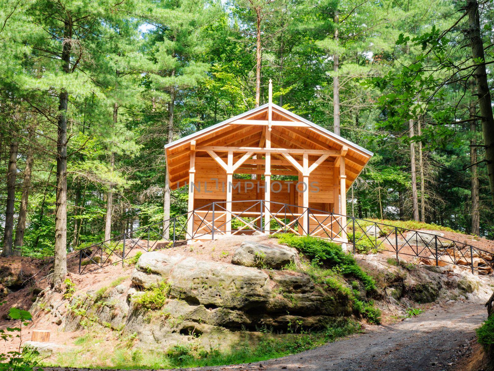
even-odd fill
[[(237, 115), (237, 116), (231, 117), (231, 118), (229, 118), (228, 120), (225, 120), (225, 121), (219, 122), (219, 123), (214, 124), (214, 125), (212, 125), (212, 126), (209, 126), (209, 127), (205, 128), (205, 129), (203, 129), (203, 130), (200, 130), (200, 131), (198, 131), (198, 132), (192, 133), (192, 134), (190, 134), (190, 135), (188, 135), (188, 136), (186, 136), (186, 137), (183, 137), (183, 138), (180, 138), (180, 139), (174, 140), (174, 141), (172, 141), (171, 143), (167, 143), (167, 144), (165, 144), (165, 149), (166, 149), (166, 148), (169, 148), (169, 147), (171, 147), (171, 146), (176, 146), (177, 144), (180, 144), (180, 143), (182, 143), (182, 142), (186, 142), (186, 141), (188, 141), (188, 140), (192, 140), (192, 139), (194, 139), (194, 138), (196, 138), (196, 137), (198, 137), (198, 136), (200, 137), (200, 136), (202, 136), (203, 134), (206, 134), (206, 133), (208, 133), (208, 132), (209, 132), (209, 131), (211, 131), (211, 130), (214, 130), (214, 129), (217, 129), (217, 128), (219, 128), (219, 127), (223, 126), (223, 125), (229, 124), (229, 123), (230, 123), (230, 122), (232, 122), (232, 121), (235, 121), (235, 120), (241, 119), (242, 117), (245, 117), (245, 116), (247, 116), (247, 115), (250, 115), (250, 114), (252, 114), (252, 113), (255, 113), (256, 111), (259, 111), (259, 110), (261, 110), (261, 109), (264, 109), (264, 108), (266, 108), (267, 106), (268, 106), (268, 103), (263, 104), (262, 106), (259, 106), (259, 107), (257, 107), (257, 108), (253, 108), (253, 109), (251, 109), (251, 110), (248, 110), (247, 112), (241, 113), (240, 115)], [(366, 153), (366, 154), (367, 154), (367, 155), (369, 155), (369, 156), (373, 156), (373, 155), (374, 155), (371, 151), (369, 151), (369, 150), (367, 150), (367, 149), (365, 149), (365, 148), (361, 147), (360, 145), (355, 144), (354, 142), (351, 142), (350, 140), (344, 139), (344, 138), (340, 137), (339, 135), (336, 135), (336, 134), (334, 134), (334, 133), (330, 132), (329, 130), (322, 128), (321, 126), (316, 125), (316, 124), (314, 124), (313, 122), (310, 122), (309, 120), (306, 120), (306, 119), (304, 119), (303, 117), (300, 117), (300, 116), (298, 116), (297, 114), (295, 114), (295, 113), (293, 113), (293, 112), (290, 112), (290, 111), (286, 110), (285, 108), (280, 107), (280, 106), (279, 106), (279, 105), (277, 105), (277, 104), (272, 103), (272, 106), (273, 106), (273, 107), (275, 107), (276, 109), (280, 110), (281, 112), (286, 113), (286, 114), (288, 114), (288, 115), (290, 115), (290, 116), (292, 116), (292, 117), (294, 117), (294, 118), (296, 118), (296, 119), (300, 120), (300, 121), (301, 121), (301, 122), (303, 122), (304, 124), (307, 124), (307, 125), (309, 125), (309, 126), (313, 127), (314, 129), (318, 129), (318, 130), (322, 131), (324, 134), (328, 135), (330, 138), (334, 138), (334, 139), (340, 140), (340, 141), (342, 141), (342, 142), (344, 142), (344, 143), (346, 143), (346, 144), (348, 144), (348, 145), (352, 146), (353, 148), (356, 148), (356, 149), (358, 149), (358, 150), (360, 150), (360, 151), (362, 151), (362, 152)]]

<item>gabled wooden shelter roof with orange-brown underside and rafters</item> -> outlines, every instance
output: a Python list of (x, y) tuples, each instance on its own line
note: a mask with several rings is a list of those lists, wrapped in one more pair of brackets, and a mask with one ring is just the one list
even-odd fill
[[(358, 177), (373, 153), (367, 149), (335, 135), (276, 104), (272, 104), (271, 145), (273, 148), (318, 149), (341, 151), (348, 148), (345, 156), (347, 186)], [(212, 125), (206, 129), (177, 139), (165, 145), (166, 171), (170, 187), (188, 179), (191, 141), (196, 146), (260, 147), (263, 145), (263, 130), (268, 121), (269, 104), (251, 109), (240, 115)], [(252, 121), (250, 124), (249, 121)], [(286, 124), (285, 124), (286, 123)], [(224, 153), (222, 155), (225, 155)], [(196, 156), (209, 156), (197, 152)], [(240, 156), (240, 153), (235, 154)], [(276, 156), (281, 155), (273, 155)], [(297, 158), (297, 156), (294, 156)], [(334, 161), (334, 157), (326, 161)], [(348, 162), (347, 162), (348, 161)]]

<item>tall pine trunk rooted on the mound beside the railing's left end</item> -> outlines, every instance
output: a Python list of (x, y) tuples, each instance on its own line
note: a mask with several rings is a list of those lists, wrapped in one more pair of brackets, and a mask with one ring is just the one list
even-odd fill
[[(70, 73), (72, 23), (67, 19), (64, 25), (62, 46), (62, 68)], [(57, 195), (55, 201), (55, 252), (53, 288), (61, 291), (62, 279), (67, 274), (67, 109), (69, 93), (62, 89), (58, 106), (57, 136)]]

